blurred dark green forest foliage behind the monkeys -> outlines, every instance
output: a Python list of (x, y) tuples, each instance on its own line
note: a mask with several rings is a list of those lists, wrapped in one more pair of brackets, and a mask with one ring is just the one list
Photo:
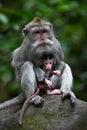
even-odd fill
[(23, 41), (24, 25), (36, 16), (53, 23), (73, 72), (75, 94), (87, 101), (87, 0), (1, 0), (0, 102), (21, 91), (11, 66), (12, 51)]

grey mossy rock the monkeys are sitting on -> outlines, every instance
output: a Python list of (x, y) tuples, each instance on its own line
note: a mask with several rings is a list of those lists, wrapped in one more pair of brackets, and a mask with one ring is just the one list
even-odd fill
[(44, 95), (42, 107), (29, 106), (24, 114), (23, 124), (18, 119), (21, 104), (11, 105), (0, 110), (0, 130), (87, 130), (87, 102), (61, 96)]

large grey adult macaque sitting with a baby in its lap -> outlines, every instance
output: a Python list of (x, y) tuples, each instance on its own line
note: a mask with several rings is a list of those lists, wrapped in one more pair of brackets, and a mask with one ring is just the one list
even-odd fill
[[(71, 91), (72, 73), (70, 67), (63, 62), (63, 52), (60, 43), (55, 38), (52, 24), (36, 17), (32, 22), (27, 24), (23, 29), (25, 39), (22, 45), (13, 52), (12, 65), (15, 67), (16, 78), (20, 81), (26, 98), (30, 97), (37, 88), (37, 81), (43, 81), (45, 72), (39, 66), (40, 57), (44, 53), (51, 53), (56, 58), (55, 70), (65, 69), (60, 76), (53, 75), (51, 78), (52, 85), (60, 85), (63, 92), (63, 98), (70, 95), (72, 102), (75, 102), (75, 95)], [(40, 103), (41, 100), (33, 99)]]

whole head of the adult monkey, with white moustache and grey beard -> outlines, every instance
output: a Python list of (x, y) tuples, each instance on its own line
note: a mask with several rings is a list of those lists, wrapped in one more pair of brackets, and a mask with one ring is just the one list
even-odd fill
[(42, 20), (31, 22), (23, 29), (28, 51), (36, 59), (40, 58), (43, 53), (52, 53), (56, 49), (54, 46), (54, 33), (51, 23), (43, 22)]

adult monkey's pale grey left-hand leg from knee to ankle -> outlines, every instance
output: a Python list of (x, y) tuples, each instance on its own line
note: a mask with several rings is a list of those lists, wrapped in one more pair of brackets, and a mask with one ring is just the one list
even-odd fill
[(26, 98), (28, 98), (35, 92), (37, 88), (33, 64), (28, 61), (25, 62), (22, 66), (21, 74), (21, 86), (24, 94), (26, 95)]

